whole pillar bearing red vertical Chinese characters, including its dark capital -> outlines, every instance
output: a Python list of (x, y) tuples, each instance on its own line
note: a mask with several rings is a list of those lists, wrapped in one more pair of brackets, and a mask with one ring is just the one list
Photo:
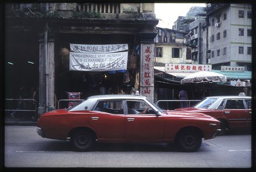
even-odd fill
[(154, 38), (157, 33), (140, 32), (140, 95), (154, 101)]

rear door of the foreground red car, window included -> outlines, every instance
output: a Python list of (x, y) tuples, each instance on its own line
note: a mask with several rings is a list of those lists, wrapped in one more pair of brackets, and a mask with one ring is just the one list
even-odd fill
[(98, 139), (124, 139), (126, 118), (122, 100), (98, 101), (92, 112), (89, 126), (95, 130)]

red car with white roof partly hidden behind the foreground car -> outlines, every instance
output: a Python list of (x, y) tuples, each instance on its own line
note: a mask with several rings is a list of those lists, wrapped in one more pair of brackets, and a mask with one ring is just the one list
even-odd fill
[(208, 114), (220, 121), (221, 131), (235, 128), (250, 129), (251, 99), (249, 96), (212, 96), (206, 97), (194, 107), (175, 110)]

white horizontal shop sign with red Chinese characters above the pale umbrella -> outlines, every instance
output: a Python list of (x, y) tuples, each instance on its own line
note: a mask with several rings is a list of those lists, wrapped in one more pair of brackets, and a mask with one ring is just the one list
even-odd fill
[(211, 64), (174, 64), (166, 63), (165, 64), (166, 72), (187, 72), (193, 73), (197, 71), (212, 71)]

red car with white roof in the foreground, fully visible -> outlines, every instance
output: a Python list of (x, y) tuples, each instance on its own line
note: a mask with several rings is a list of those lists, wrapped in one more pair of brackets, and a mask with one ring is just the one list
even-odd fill
[(37, 123), (43, 138), (71, 139), (78, 150), (98, 142), (176, 141), (187, 152), (196, 151), (202, 138), (212, 139), (220, 122), (206, 114), (162, 111), (145, 96), (91, 96), (71, 109), (44, 113)]

